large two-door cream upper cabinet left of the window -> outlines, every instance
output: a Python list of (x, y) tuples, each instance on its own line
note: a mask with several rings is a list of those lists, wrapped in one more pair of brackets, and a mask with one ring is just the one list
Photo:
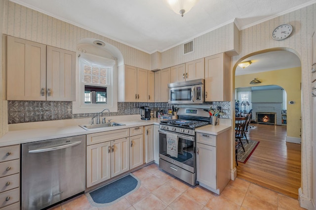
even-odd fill
[(7, 100), (75, 101), (76, 53), (7, 36)]

